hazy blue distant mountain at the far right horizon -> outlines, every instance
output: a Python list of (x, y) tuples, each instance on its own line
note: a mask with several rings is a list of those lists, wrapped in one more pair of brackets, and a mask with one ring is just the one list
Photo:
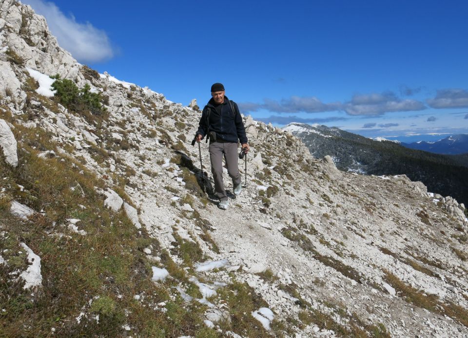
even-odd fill
[(467, 134), (451, 135), (437, 142), (420, 141), (400, 144), (407, 148), (425, 150), (437, 154), (458, 155), (468, 153)]

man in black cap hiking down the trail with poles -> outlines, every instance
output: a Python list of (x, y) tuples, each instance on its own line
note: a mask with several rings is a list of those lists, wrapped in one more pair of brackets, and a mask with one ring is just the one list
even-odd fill
[(211, 172), (215, 181), (215, 192), (219, 198), (218, 207), (226, 210), (229, 200), (223, 183), (223, 156), (229, 176), (233, 179), (234, 194), (239, 195), (242, 186), (237, 165), (237, 145), (240, 141), (245, 153), (250, 150), (250, 146), (239, 108), (224, 95), (224, 86), (221, 83), (211, 86), (211, 96), (203, 108), (195, 140), (200, 142), (205, 136), (207, 141), (210, 139)]

